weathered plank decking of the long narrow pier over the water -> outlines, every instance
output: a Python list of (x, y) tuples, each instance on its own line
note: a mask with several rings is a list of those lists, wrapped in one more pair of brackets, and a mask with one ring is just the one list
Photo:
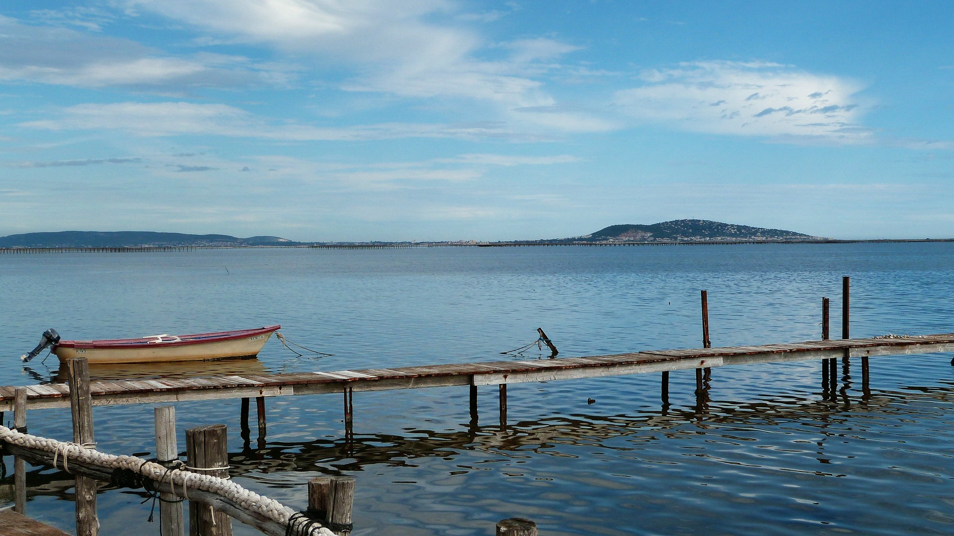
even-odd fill
[[(608, 356), (550, 360), (448, 363), (297, 374), (93, 381), (90, 391), (93, 405), (178, 402), (453, 385), (506, 385), (526, 381), (596, 378), (737, 364), (819, 361), (934, 352), (954, 352), (954, 333), (904, 337), (892, 335), (871, 339), (809, 340), (721, 348), (647, 350)], [(27, 389), (29, 393), (27, 406), (31, 409), (70, 405), (70, 387), (66, 383), (29, 385)], [(0, 411), (11, 410), (13, 401), (14, 388), (0, 387)]]

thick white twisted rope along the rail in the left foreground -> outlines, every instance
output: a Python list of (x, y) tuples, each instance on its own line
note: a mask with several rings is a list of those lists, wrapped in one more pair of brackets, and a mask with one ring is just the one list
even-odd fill
[[(285, 526), (288, 525), (292, 515), (296, 513), (295, 510), (288, 506), (282, 505), (274, 499), (263, 497), (254, 491), (245, 489), (231, 480), (217, 478), (212, 475), (183, 471), (181, 469), (170, 469), (164, 465), (149, 462), (148, 460), (143, 460), (135, 456), (106, 454), (105, 452), (95, 450), (95, 448), (90, 445), (58, 442), (49, 438), (41, 438), (39, 436), (17, 432), (3, 425), (0, 425), (0, 440), (24, 448), (50, 452), (53, 454), (54, 463), (57, 458), (62, 457), (63, 469), (67, 471), (69, 471), (67, 468), (67, 460), (69, 459), (84, 464), (97, 465), (99, 467), (128, 469), (141, 475), (143, 478), (170, 484), (173, 489), (178, 486), (182, 489), (184, 496), (186, 489), (190, 487), (215, 493), (240, 505), (248, 511), (256, 512)], [(188, 496), (186, 496), (186, 498), (188, 499)], [(324, 526), (318, 529), (312, 528), (310, 534), (316, 536), (335, 536), (334, 532)]]

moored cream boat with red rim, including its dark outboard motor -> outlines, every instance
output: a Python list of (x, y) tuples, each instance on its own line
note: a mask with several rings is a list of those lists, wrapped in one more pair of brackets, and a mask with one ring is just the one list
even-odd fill
[[(280, 325), (257, 329), (197, 333), (194, 335), (153, 335), (141, 339), (58, 340), (55, 335), (52, 353), (61, 362), (77, 357), (95, 363), (157, 363), (169, 361), (205, 361), (225, 358), (253, 358), (261, 347), (280, 329)], [(44, 334), (44, 340), (50, 336)], [(41, 342), (42, 344), (43, 342)], [(39, 348), (39, 346), (37, 347)], [(31, 352), (30, 359), (33, 352)], [(24, 361), (30, 361), (24, 356)]]

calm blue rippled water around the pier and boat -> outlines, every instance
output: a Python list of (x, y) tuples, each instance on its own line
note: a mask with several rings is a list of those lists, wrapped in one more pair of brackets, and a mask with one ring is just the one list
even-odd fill
[[(55, 357), (16, 359), (48, 327), (85, 340), (281, 323), (334, 354), (273, 339), (258, 361), (168, 374), (496, 361), (537, 327), (561, 357), (697, 347), (700, 289), (716, 346), (818, 339), (822, 296), (840, 319), (841, 276), (855, 337), (954, 331), (950, 243), (5, 255), (0, 383), (56, 378)], [(185, 428), (227, 423), (234, 478), (286, 505), (305, 506), (311, 477), (357, 477), (354, 534), (487, 535), (512, 516), (548, 535), (950, 534), (950, 359), (873, 358), (870, 396), (854, 366), (834, 402), (819, 363), (716, 368), (703, 410), (692, 371), (672, 374), (668, 408), (657, 374), (514, 384), (505, 429), (495, 387), (477, 423), (463, 387), (356, 393), (353, 443), (340, 395), (268, 399), (261, 447), (239, 437), (238, 400), (176, 417), (180, 446)], [(31, 433), (68, 440), (69, 417), (33, 411)], [(100, 450), (152, 456), (152, 406), (97, 407), (94, 423)], [(28, 512), (72, 531), (68, 475), (33, 469), (29, 484)], [(102, 493), (101, 533), (157, 534), (142, 499)]]

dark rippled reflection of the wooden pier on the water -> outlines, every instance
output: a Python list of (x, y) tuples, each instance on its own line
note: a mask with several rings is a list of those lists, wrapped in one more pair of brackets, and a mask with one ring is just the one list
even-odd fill
[[(850, 396), (847, 389), (841, 394), (851, 401), (861, 401), (859, 396)], [(866, 419), (917, 418), (921, 413), (927, 415), (925, 410), (917, 407), (922, 403), (935, 409), (939, 402), (954, 404), (954, 381), (941, 386), (908, 386), (903, 392), (876, 391), (863, 397)], [(866, 428), (853, 428), (858, 426), (857, 418), (858, 414), (852, 411), (850, 403), (833, 404), (799, 396), (749, 402), (708, 402), (704, 413), (700, 413), (696, 406), (664, 404), (659, 410), (632, 414), (572, 414), (506, 425), (481, 426), (476, 420), (471, 420), (461, 423), (459, 430), (449, 432), (420, 428), (406, 429), (401, 435), (394, 435), (355, 434), (352, 430), (340, 439), (307, 442), (265, 443), (264, 438), (259, 438), (258, 448), (252, 448), (246, 440), (240, 450), (231, 452), (229, 464), (232, 466), (230, 474), (234, 477), (287, 486), (289, 474), (354, 474), (379, 464), (413, 466), (415, 460), (425, 458), (454, 461), (474, 453), (488, 460), (501, 457), (566, 458), (576, 456), (572, 452), (576, 447), (584, 447), (586, 451), (599, 448), (624, 456), (633, 450), (645, 450), (653, 443), (683, 440), (687, 435), (702, 434), (711, 441), (739, 443), (757, 441), (751, 437), (752, 430), (772, 429), (775, 433), (804, 435), (803, 428), (810, 428), (811, 435), (820, 439), (812, 443), (810, 451), (803, 452), (810, 452), (819, 467), (812, 470), (785, 467), (783, 470), (839, 477), (844, 475), (822, 468), (831, 464), (830, 456), (825, 453), (826, 443), (830, 440), (840, 443), (845, 438), (863, 439), (870, 434)], [(798, 426), (798, 430), (793, 426)], [(149, 454), (142, 453), (144, 457)], [(746, 465), (738, 460), (718, 459), (714, 454), (706, 454), (706, 457), (723, 464)], [(475, 467), (468, 469), (467, 464), (455, 467), (463, 472), (476, 470)], [(73, 498), (73, 477), (62, 470), (33, 468), (28, 471), (27, 483), (30, 496)], [(4, 498), (10, 495), (12, 485), (12, 475), (0, 478), (0, 503), (6, 502)], [(100, 490), (109, 489), (116, 487), (106, 484), (100, 487)], [(142, 490), (124, 490), (123, 493), (147, 496)]]

